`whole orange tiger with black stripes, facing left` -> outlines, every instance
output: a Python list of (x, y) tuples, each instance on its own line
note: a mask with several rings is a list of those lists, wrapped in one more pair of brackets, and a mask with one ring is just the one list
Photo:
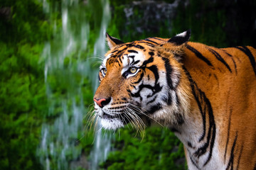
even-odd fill
[(183, 143), (188, 169), (256, 170), (256, 49), (106, 33), (93, 98), (103, 128), (159, 123)]

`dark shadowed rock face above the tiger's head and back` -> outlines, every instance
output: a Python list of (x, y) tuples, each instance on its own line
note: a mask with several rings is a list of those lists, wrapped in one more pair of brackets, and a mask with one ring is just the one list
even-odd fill
[[(128, 34), (137, 37), (138, 34), (145, 35), (145, 33), (153, 36), (161, 33), (168, 37), (191, 28), (192, 35), (195, 35), (197, 41), (202, 41), (198, 39), (199, 36), (206, 38), (203, 33), (216, 33), (219, 37), (206, 38), (206, 40), (218, 39), (213, 45), (218, 42), (220, 47), (256, 46), (256, 1), (254, 0), (144, 0), (124, 2), (122, 6), (124, 6), (122, 17), (115, 11), (117, 6), (112, 6), (114, 8), (112, 16), (117, 18), (117, 22), (124, 23), (120, 31), (121, 37)], [(220, 39), (222, 44), (219, 43)]]

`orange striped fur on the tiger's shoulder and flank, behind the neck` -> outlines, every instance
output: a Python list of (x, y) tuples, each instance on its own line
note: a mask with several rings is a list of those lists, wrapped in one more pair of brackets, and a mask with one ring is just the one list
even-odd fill
[[(219, 4), (222, 2), (218, 0)], [(256, 1), (225, 0), (226, 11), (225, 32), (230, 46), (252, 45), (256, 47)]]

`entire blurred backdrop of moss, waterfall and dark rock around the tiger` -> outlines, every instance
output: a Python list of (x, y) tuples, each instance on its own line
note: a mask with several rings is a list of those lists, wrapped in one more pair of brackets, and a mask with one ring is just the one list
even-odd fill
[[(0, 0), (0, 169), (187, 169), (163, 128), (90, 128), (105, 32), (256, 47), (255, 0)], [(95, 128), (94, 128), (95, 127)]]

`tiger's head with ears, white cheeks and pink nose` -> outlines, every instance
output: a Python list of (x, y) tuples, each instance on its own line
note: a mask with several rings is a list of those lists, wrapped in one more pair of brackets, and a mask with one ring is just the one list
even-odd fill
[(94, 96), (95, 113), (103, 128), (116, 130), (127, 123), (183, 123), (189, 88), (182, 60), (190, 31), (171, 39), (128, 43), (106, 36), (110, 51), (100, 66), (100, 86)]

